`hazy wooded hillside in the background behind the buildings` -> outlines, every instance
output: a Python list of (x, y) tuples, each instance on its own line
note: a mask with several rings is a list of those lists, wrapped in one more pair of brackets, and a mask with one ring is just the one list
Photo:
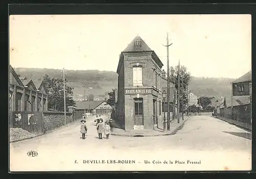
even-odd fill
[[(15, 68), (20, 76), (28, 79), (40, 80), (48, 74), (51, 78), (62, 78), (61, 70), (46, 68)], [(79, 86), (92, 87), (87, 94), (104, 94), (117, 88), (117, 73), (114, 71), (99, 70), (67, 70), (65, 75), (69, 86), (74, 87), (74, 94), (84, 94), (84, 89)], [(192, 77), (189, 89), (197, 96), (230, 96), (230, 82), (235, 79)]]

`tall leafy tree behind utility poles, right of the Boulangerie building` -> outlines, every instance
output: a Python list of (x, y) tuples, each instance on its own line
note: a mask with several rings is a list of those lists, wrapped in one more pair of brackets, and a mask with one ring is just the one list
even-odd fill
[[(175, 85), (175, 88), (178, 89), (178, 65), (170, 67), (170, 82)], [(187, 71), (187, 68), (183, 65), (180, 65), (180, 109), (184, 110), (184, 104), (188, 102), (187, 86), (191, 79), (190, 72)]]

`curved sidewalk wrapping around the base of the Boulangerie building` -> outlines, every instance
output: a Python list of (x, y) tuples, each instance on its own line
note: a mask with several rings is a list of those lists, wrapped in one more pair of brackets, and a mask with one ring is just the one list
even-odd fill
[(132, 130), (132, 131), (124, 131), (122, 129), (117, 129), (113, 127), (113, 131), (111, 135), (113, 136), (126, 136), (126, 137), (150, 137), (150, 136), (166, 136), (166, 135), (174, 135), (177, 133), (178, 130), (180, 130), (184, 123), (189, 119), (190, 116), (184, 116), (184, 120), (182, 120), (182, 117), (180, 119), (180, 123), (178, 123), (178, 120), (175, 119), (170, 122), (170, 131), (163, 131), (162, 125), (159, 125), (159, 128), (155, 130)]

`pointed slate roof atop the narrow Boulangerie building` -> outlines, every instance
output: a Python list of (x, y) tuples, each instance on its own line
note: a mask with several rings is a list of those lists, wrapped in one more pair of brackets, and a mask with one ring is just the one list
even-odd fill
[[(139, 41), (137, 43), (137, 41)], [(151, 52), (152, 49), (141, 39), (140, 36), (136, 36), (132, 42), (123, 50), (123, 52)]]

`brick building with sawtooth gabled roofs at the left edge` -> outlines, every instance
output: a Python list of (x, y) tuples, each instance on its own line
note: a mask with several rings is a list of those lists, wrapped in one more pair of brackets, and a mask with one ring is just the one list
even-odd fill
[[(26, 77), (19, 78), (9, 66), (9, 110), (48, 111), (48, 92), (44, 83), (34, 83)], [(22, 79), (22, 80), (21, 80)]]

